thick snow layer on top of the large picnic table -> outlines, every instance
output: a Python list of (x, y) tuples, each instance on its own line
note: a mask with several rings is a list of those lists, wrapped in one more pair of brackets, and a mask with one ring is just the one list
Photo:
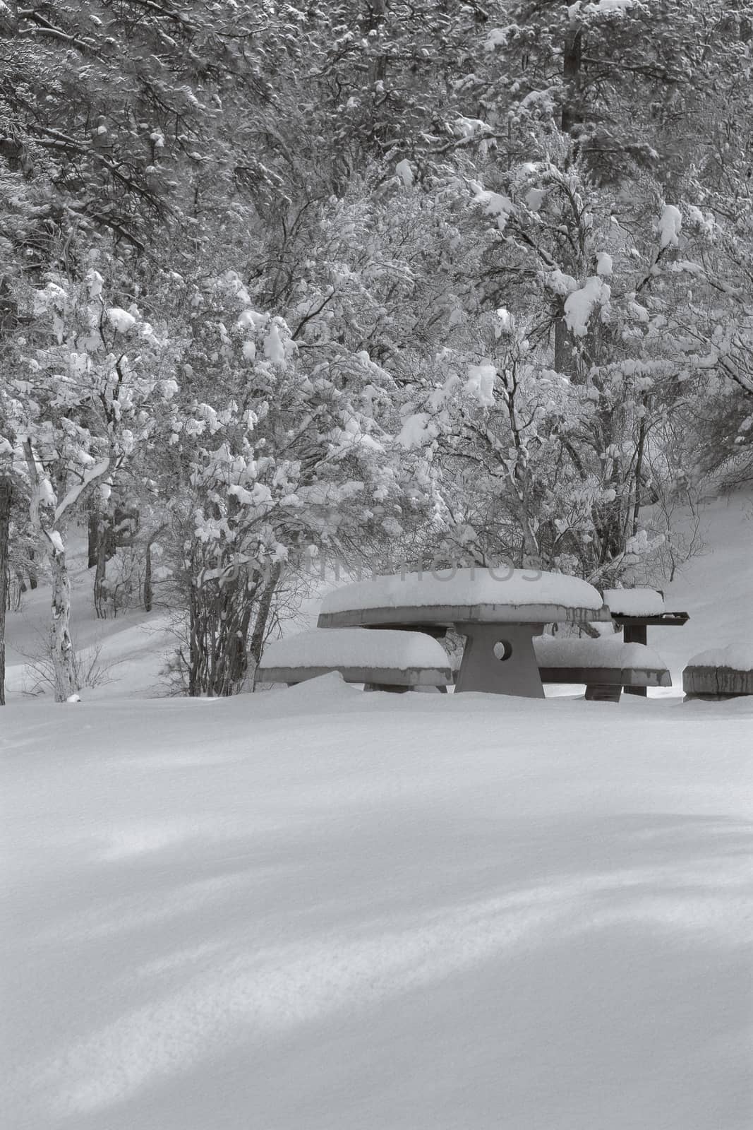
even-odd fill
[(322, 601), (322, 612), (474, 605), (560, 605), (599, 609), (603, 600), (596, 589), (580, 577), (500, 565), (497, 568), (396, 573), (357, 581), (329, 592)]

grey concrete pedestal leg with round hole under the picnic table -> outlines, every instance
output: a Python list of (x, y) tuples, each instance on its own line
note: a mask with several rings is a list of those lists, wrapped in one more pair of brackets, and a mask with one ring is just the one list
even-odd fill
[(466, 637), (456, 693), (544, 697), (533, 650), (533, 637), (542, 634), (543, 624), (456, 624), (455, 628)]

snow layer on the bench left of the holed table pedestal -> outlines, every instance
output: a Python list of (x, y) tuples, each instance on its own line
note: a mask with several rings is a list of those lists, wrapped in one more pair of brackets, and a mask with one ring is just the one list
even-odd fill
[(275, 667), (449, 667), (447, 652), (421, 632), (314, 628), (275, 640), (264, 649), (261, 670)]

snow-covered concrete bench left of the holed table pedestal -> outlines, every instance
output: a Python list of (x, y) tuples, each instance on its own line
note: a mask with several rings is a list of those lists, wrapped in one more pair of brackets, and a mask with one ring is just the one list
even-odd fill
[(314, 628), (264, 649), (257, 683), (295, 686), (330, 671), (369, 690), (446, 689), (453, 681), (441, 644), (421, 632)]

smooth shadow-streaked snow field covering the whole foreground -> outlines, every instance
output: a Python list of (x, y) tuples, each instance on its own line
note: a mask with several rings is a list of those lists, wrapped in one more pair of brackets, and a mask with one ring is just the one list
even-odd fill
[(16, 702), (7, 1130), (748, 1130), (753, 703)]

